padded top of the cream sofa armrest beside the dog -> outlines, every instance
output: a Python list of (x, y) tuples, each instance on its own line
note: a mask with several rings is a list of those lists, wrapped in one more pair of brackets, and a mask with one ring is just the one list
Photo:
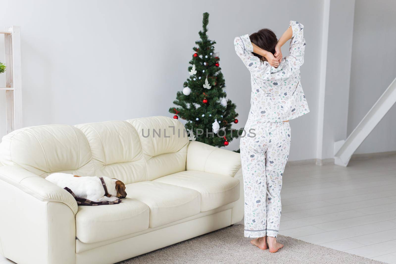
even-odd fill
[(40, 201), (53, 201), (67, 205), (74, 215), (78, 211), (74, 197), (52, 182), (17, 166), (0, 167), (0, 180), (17, 187)]

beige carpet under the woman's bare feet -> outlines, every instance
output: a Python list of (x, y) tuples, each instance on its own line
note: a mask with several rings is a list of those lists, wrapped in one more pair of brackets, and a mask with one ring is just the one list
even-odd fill
[(243, 229), (242, 224), (230, 226), (120, 263), (384, 263), (285, 236), (278, 236), (284, 248), (269, 253), (251, 245)]

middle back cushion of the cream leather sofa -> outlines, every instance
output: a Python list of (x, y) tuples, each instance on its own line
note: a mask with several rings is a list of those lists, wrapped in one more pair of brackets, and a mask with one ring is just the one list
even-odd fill
[(125, 121), (76, 125), (88, 139), (96, 176), (125, 184), (147, 180), (142, 146), (135, 128)]

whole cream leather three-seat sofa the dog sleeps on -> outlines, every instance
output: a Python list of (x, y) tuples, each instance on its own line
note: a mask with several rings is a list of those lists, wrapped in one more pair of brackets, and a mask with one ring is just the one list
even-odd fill
[[(183, 131), (157, 116), (3, 137), (0, 254), (18, 264), (115, 263), (242, 220), (239, 154), (189, 142)], [(120, 179), (128, 198), (77, 206), (45, 179), (54, 172)]]

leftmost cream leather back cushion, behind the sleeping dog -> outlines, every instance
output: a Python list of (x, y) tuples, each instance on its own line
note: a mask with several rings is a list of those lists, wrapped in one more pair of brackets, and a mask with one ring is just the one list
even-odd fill
[(88, 141), (71, 125), (42, 125), (11, 132), (0, 144), (0, 162), (23, 167), (43, 178), (54, 172), (95, 175)]

